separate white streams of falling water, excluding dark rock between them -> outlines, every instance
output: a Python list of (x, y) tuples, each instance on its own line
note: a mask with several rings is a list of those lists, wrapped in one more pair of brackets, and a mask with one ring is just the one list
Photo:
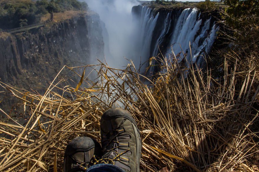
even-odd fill
[[(150, 8), (142, 7), (141, 15), (141, 38), (145, 39), (141, 49), (145, 49), (144, 53), (142, 53), (142, 57), (146, 57), (146, 60), (152, 56), (157, 56), (159, 53), (158, 47), (161, 45), (162, 41), (164, 39), (170, 39), (169, 44), (166, 45), (167, 50), (163, 52), (165, 56), (171, 57), (173, 50), (179, 61), (184, 58), (185, 54), (188, 62), (195, 62), (199, 55), (204, 55), (204, 53), (208, 53), (210, 51), (219, 28), (215, 24), (213, 24), (213, 27), (210, 28), (211, 18), (202, 24), (202, 19), (200, 19), (199, 16), (197, 17), (197, 15), (200, 14), (196, 8), (184, 9), (180, 16), (175, 19), (176, 21), (172, 21), (170, 18), (171, 12), (168, 12), (167, 16), (164, 18), (164, 21), (160, 21), (160, 23), (163, 23), (159, 26), (162, 29), (160, 29), (158, 39), (155, 41), (155, 48), (150, 53), (150, 48), (146, 49), (146, 47), (151, 44), (150, 36), (152, 36), (153, 33), (150, 32), (154, 31), (155, 26), (153, 24), (150, 25), (150, 28), (146, 28), (146, 26), (147, 23), (157, 22), (159, 13), (152, 16), (152, 11)], [(170, 30), (172, 23), (176, 24), (172, 27), (173, 30)], [(171, 35), (171, 37), (165, 37), (166, 35)]]

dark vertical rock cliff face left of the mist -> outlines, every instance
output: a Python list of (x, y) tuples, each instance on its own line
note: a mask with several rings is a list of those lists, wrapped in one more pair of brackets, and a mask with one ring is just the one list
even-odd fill
[(97, 14), (0, 37), (0, 80), (19, 87), (44, 87), (64, 66), (96, 63), (104, 43)]

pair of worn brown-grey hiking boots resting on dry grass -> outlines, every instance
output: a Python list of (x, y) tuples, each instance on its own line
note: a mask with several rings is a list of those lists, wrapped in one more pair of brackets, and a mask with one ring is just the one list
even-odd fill
[(77, 137), (67, 145), (64, 172), (85, 171), (100, 163), (140, 171), (142, 142), (131, 114), (121, 108), (109, 109), (102, 115), (100, 128), (102, 146), (89, 137)]

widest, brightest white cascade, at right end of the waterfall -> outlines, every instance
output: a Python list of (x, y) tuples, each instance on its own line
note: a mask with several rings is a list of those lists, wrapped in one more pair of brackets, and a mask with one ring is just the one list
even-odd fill
[[(172, 45), (175, 55), (179, 55), (179, 61), (182, 60), (183, 53), (185, 53), (187, 61), (195, 62), (198, 55), (209, 52), (217, 36), (218, 27), (214, 26), (209, 32), (211, 19), (205, 21), (200, 30), (202, 20), (196, 20), (197, 12), (197, 9), (185, 9), (177, 20), (170, 45)], [(203, 40), (202, 43), (199, 43), (200, 39)], [(168, 50), (167, 54), (170, 53), (172, 53), (171, 50)]]

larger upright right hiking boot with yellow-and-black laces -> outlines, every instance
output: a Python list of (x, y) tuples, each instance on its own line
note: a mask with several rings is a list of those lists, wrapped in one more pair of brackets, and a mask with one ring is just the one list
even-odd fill
[(127, 172), (140, 171), (142, 142), (137, 123), (128, 111), (109, 109), (101, 118), (103, 156), (96, 163), (109, 163)]

